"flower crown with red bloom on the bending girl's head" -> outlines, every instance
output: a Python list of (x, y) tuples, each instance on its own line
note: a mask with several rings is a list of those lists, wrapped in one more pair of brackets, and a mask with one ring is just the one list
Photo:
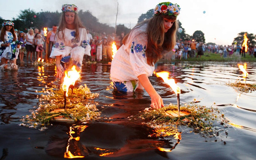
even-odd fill
[(180, 14), (180, 6), (177, 4), (172, 4), (171, 2), (162, 2), (155, 6), (154, 14), (156, 15), (174, 15), (177, 17), (177, 15)]

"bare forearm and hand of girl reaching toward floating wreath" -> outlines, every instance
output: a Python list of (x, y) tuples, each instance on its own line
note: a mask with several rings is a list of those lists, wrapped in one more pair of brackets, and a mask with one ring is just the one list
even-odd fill
[(142, 74), (138, 76), (139, 82), (142, 84), (142, 86), (145, 88), (145, 90), (148, 92), (149, 96), (151, 97), (151, 107), (155, 109), (160, 109), (164, 107), (163, 99), (159, 94), (156, 92), (155, 88), (150, 83), (148, 77), (146, 74)]

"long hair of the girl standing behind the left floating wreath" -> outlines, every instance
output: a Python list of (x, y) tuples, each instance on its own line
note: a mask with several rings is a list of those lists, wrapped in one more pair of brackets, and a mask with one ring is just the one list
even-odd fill
[[(75, 14), (75, 20), (74, 20), (74, 26), (75, 26), (75, 40), (79, 40), (79, 28), (85, 28), (85, 26), (82, 24), (80, 17), (78, 14)], [(62, 13), (62, 16), (60, 17), (60, 23), (59, 27), (57, 29), (57, 33), (55, 36), (57, 36), (59, 39), (64, 39), (65, 41), (65, 36), (64, 36), (64, 29), (66, 28), (66, 21), (65, 21), (65, 12)], [(59, 35), (59, 32), (61, 32), (61, 35)]]

